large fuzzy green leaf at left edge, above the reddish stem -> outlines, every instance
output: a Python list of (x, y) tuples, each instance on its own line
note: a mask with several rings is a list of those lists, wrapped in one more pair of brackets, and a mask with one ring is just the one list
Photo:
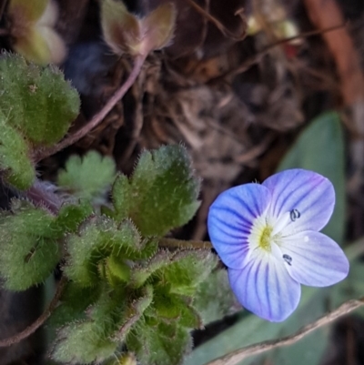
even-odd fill
[(21, 56), (0, 58), (0, 110), (35, 147), (52, 146), (76, 119), (80, 100), (55, 66), (27, 64)]

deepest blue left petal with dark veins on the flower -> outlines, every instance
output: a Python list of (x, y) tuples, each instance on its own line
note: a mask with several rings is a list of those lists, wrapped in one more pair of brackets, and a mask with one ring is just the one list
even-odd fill
[(224, 191), (209, 208), (208, 234), (218, 256), (228, 268), (244, 267), (252, 223), (264, 214), (269, 202), (268, 188), (246, 184)]

